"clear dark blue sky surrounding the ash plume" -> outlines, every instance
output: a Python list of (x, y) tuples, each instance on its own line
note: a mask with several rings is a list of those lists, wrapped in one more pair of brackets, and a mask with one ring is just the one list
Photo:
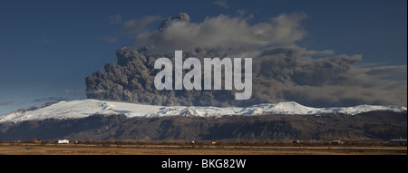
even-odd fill
[(134, 43), (124, 34), (124, 22), (180, 12), (189, 14), (192, 23), (247, 14), (254, 24), (304, 13), (307, 34), (297, 45), (363, 54), (361, 65), (406, 69), (406, 0), (1, 1), (0, 114), (47, 101), (85, 99), (85, 77), (116, 62), (116, 50)]

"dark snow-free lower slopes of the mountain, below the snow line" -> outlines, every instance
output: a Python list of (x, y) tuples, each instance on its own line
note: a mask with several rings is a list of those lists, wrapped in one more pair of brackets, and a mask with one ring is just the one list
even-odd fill
[(202, 118), (127, 118), (93, 115), (83, 119), (1, 123), (0, 140), (389, 140), (407, 137), (407, 114), (372, 111), (350, 115), (262, 115)]

